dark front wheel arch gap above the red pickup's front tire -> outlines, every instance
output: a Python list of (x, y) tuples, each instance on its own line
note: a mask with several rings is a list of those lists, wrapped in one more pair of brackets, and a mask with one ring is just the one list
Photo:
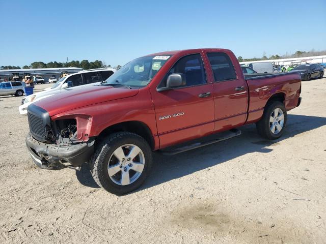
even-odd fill
[(149, 127), (142, 121), (131, 120), (124, 121), (118, 124), (111, 125), (100, 132), (98, 136), (96, 136), (95, 146), (100, 143), (106, 136), (116, 133), (116, 132), (131, 132), (135, 133), (141, 137), (143, 137), (151, 149), (153, 150), (155, 147), (155, 141)]

